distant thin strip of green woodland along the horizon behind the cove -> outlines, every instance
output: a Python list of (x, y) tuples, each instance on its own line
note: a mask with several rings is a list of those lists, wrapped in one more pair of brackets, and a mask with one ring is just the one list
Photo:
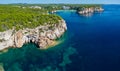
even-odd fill
[(64, 7), (69, 7), (70, 10), (78, 10), (89, 7), (101, 7), (101, 4), (8, 4), (10, 6), (20, 6), (20, 7), (31, 7), (31, 6), (40, 6), (43, 10), (48, 12), (54, 10), (63, 10)]

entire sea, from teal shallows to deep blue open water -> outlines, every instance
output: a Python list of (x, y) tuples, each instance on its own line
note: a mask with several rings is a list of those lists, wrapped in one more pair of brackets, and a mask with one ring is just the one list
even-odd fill
[(120, 5), (103, 7), (89, 17), (58, 11), (68, 27), (59, 39), (63, 43), (48, 50), (32, 43), (10, 48), (0, 54), (1, 66), (5, 71), (120, 71)]

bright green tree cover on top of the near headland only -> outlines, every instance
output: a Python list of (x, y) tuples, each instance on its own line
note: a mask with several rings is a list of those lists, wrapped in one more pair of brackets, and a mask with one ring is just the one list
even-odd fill
[(40, 25), (56, 24), (61, 17), (48, 14), (46, 10), (23, 8), (19, 6), (0, 5), (0, 31), (34, 28)]

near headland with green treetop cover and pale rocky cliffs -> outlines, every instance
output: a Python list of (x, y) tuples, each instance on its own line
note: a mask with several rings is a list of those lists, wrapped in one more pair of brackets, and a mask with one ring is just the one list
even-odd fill
[(0, 50), (28, 42), (46, 49), (66, 30), (61, 17), (40, 7), (0, 6)]

